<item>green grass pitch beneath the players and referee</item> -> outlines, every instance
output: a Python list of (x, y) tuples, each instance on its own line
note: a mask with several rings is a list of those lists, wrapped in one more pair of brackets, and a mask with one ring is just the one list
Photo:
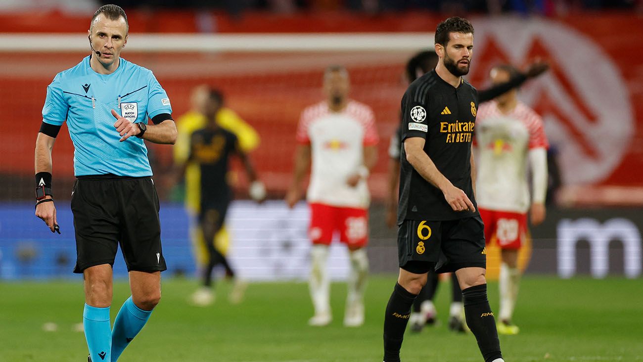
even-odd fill
[[(194, 280), (168, 278), (163, 298), (145, 329), (120, 357), (123, 362), (380, 362), (382, 322), (395, 276), (373, 276), (363, 327), (342, 326), (343, 284), (332, 285), (334, 320), (328, 327), (308, 327), (312, 314), (303, 283), (251, 284), (244, 302), (231, 305), (230, 285), (218, 285), (211, 307), (186, 302)], [(641, 280), (593, 280), (526, 276), (514, 320), (517, 336), (501, 336), (507, 362), (643, 361), (643, 288)], [(441, 323), (420, 334), (407, 332), (403, 361), (482, 361), (471, 334), (446, 326), (449, 286), (437, 296)], [(497, 284), (489, 299), (498, 309)], [(114, 285), (112, 321), (129, 295), (127, 282)], [(0, 362), (86, 361), (82, 332), (80, 282), (0, 282)], [(46, 332), (46, 322), (57, 330)]]

